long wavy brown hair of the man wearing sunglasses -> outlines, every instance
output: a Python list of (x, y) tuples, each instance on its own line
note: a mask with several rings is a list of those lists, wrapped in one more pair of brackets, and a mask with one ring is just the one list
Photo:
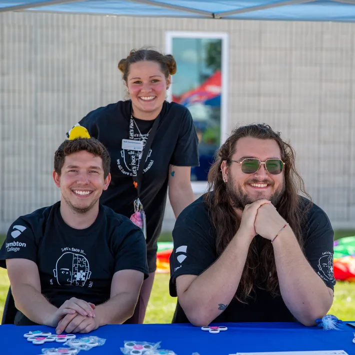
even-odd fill
[[(205, 202), (216, 229), (217, 256), (226, 248), (240, 224), (226, 191), (220, 166), (223, 160), (226, 160), (228, 167), (230, 166), (232, 155), (235, 153), (236, 142), (243, 137), (274, 139), (277, 142), (281, 160), (285, 162), (283, 169), (285, 188), (275, 207), (278, 213), (289, 223), (300, 247), (303, 249), (301, 229), (311, 203), (301, 203), (299, 194), (302, 193), (310, 201), (311, 198), (306, 193), (303, 179), (295, 168), (293, 148), (281, 139), (280, 132), (276, 132), (269, 125), (262, 123), (235, 128), (217, 151), (215, 160), (209, 169), (208, 192), (205, 195)], [(250, 244), (234, 297), (239, 301), (246, 302), (248, 297), (253, 296), (255, 287), (266, 289), (273, 296), (279, 294), (273, 248), (269, 240), (260, 236), (253, 238)]]

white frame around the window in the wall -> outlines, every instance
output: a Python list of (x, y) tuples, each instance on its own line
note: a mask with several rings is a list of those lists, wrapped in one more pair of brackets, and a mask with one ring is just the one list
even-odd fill
[[(215, 38), (222, 40), (222, 97), (220, 103), (220, 143), (223, 143), (228, 136), (228, 62), (229, 62), (229, 35), (226, 32), (199, 32), (199, 31), (166, 31), (165, 48), (167, 54), (172, 53), (173, 38)], [(173, 80), (171, 85), (173, 85)], [(167, 90), (167, 100), (172, 99), (171, 85)], [(204, 193), (207, 189), (207, 181), (191, 181), (194, 193)]]

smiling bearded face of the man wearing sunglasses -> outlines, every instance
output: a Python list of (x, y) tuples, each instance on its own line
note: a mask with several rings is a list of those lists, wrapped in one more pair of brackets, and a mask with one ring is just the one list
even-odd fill
[[(260, 161), (270, 158), (281, 159), (280, 148), (273, 139), (258, 139), (243, 137), (236, 142), (235, 152), (231, 159), (241, 161), (253, 157)], [(226, 190), (236, 208), (244, 208), (246, 204), (265, 198), (277, 205), (284, 192), (283, 172), (269, 174), (264, 164), (253, 174), (241, 171), (241, 165), (231, 162), (228, 166), (225, 160), (221, 164), (223, 177), (226, 179)]]

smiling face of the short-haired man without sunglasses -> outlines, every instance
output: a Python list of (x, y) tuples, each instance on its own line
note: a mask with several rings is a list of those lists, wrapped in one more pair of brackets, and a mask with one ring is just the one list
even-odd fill
[(86, 213), (98, 206), (102, 190), (110, 182), (104, 178), (102, 159), (86, 150), (65, 156), (60, 175), (53, 171), (55, 184), (60, 187), (61, 201), (76, 213)]

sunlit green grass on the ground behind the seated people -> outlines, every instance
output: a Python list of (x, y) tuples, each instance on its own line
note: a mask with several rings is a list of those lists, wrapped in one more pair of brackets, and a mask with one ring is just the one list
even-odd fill
[[(355, 235), (355, 230), (337, 230), (335, 239), (343, 236)], [(4, 235), (0, 235), (0, 245)], [(161, 233), (159, 241), (170, 241), (171, 233)], [(176, 298), (170, 297), (169, 275), (156, 274), (153, 289), (148, 303), (145, 323), (170, 323), (175, 309)], [(5, 269), (0, 268), (0, 318), (5, 302), (9, 281)], [(343, 320), (355, 320), (355, 282), (337, 282), (334, 289), (334, 302), (329, 310)]]

